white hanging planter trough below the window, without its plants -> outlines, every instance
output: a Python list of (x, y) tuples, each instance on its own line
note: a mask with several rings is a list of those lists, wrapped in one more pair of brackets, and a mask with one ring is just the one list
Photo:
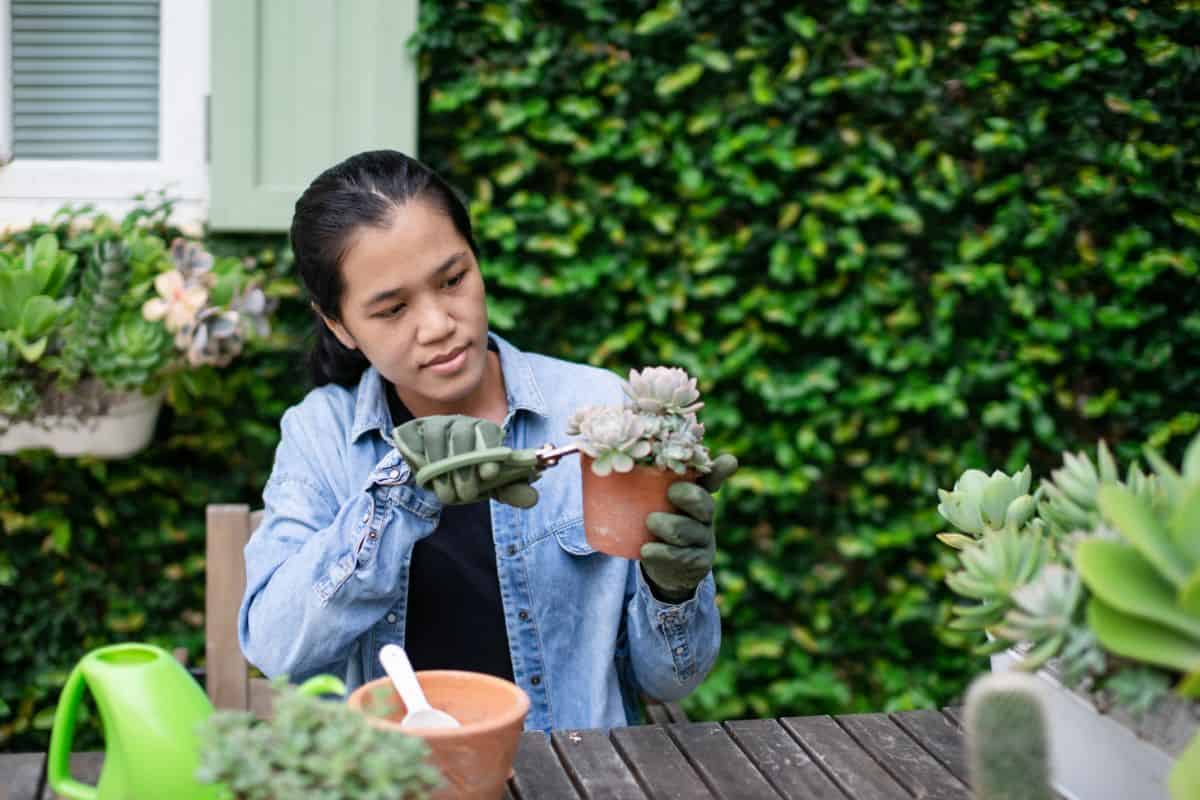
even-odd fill
[(108, 411), (80, 421), (70, 416), (37, 416), (6, 423), (0, 417), (0, 453), (49, 447), (58, 456), (125, 458), (150, 444), (162, 408), (162, 392), (114, 395)]

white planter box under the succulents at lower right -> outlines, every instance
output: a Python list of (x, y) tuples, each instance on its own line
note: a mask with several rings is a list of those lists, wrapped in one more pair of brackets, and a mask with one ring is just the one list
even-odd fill
[[(991, 657), (992, 672), (1020, 660), (1013, 650)], [(1171, 696), (1141, 720), (1100, 712), (1088, 694), (1064, 687), (1052, 668), (1037, 670), (1044, 691), (1055, 788), (1068, 800), (1169, 800), (1175, 757), (1196, 733), (1196, 705)]]

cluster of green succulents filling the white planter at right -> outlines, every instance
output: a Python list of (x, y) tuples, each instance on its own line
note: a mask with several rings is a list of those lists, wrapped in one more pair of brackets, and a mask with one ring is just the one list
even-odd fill
[[(1054, 660), (1064, 685), (1132, 712), (1172, 687), (1200, 699), (1200, 435), (1178, 470), (1151, 449), (1146, 459), (1152, 473), (1132, 464), (1122, 481), (1100, 443), (1096, 463), (1068, 453), (1034, 495), (1027, 468), (970, 470), (940, 492), (938, 511), (959, 529), (938, 535), (961, 564), (947, 584), (972, 601), (952, 627), (985, 632), (980, 652), (1020, 648), (1024, 669)], [(1200, 735), (1171, 788), (1200, 796)]]

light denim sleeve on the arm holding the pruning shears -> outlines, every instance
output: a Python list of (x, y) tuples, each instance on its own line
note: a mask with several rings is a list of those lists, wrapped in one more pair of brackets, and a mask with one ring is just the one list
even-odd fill
[(413, 545), (433, 533), (442, 506), (406, 486), (391, 450), (361, 489), (338, 503), (323, 473), (329, 455), (289, 410), (263, 489), (263, 519), (246, 545), (238, 636), (268, 676), (344, 674), (354, 642), (396, 601)]

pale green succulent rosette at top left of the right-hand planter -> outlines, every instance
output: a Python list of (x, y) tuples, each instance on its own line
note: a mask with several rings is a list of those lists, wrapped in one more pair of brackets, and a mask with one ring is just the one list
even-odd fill
[[(1027, 494), (1032, 473), (1026, 467), (1015, 475), (996, 470), (990, 476), (968, 469), (954, 482), (954, 489), (938, 489), (941, 503), (937, 512), (959, 530), (978, 539), (989, 530), (1019, 530), (1033, 517), (1037, 499)], [(940, 539), (952, 547), (965, 546), (961, 534), (942, 534)]]

